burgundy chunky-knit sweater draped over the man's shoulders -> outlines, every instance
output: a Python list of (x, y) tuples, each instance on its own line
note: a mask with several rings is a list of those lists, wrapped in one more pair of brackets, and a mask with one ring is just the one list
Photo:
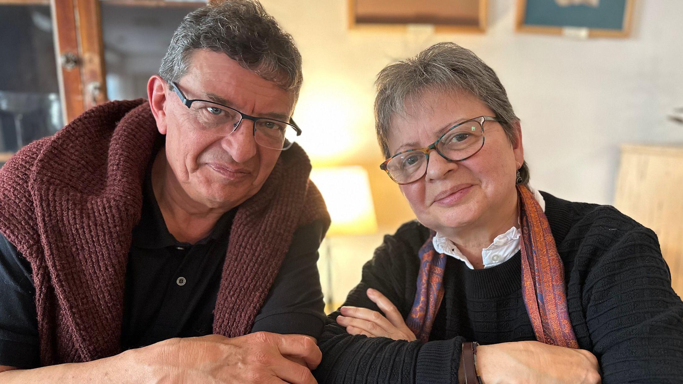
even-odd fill
[[(120, 353), (131, 231), (157, 137), (148, 102), (109, 102), (25, 146), (0, 170), (0, 232), (33, 269), (43, 365)], [(238, 207), (214, 333), (249, 333), (294, 230), (316, 219), (329, 225), (310, 169), (292, 146)]]

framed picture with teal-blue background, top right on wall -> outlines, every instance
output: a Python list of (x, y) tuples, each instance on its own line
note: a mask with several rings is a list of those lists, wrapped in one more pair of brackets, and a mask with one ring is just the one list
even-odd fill
[(626, 38), (634, 0), (517, 0), (516, 31)]

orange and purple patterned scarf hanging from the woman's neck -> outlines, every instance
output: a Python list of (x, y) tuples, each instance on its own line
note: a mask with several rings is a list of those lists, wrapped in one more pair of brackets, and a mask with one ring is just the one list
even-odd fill
[[(567, 310), (564, 266), (557, 253), (548, 219), (533, 193), (523, 185), (519, 195), (522, 240), (522, 297), (536, 340), (545, 344), (579, 348)], [(434, 318), (443, 299), (446, 256), (437, 253), (432, 236), (419, 250), (417, 292), (406, 325), (417, 340), (428, 342)]]

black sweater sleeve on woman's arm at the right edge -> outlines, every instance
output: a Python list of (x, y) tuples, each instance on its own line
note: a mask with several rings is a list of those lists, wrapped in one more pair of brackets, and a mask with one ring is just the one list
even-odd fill
[(602, 383), (683, 383), (683, 302), (652, 230), (620, 236), (591, 268), (584, 298)]

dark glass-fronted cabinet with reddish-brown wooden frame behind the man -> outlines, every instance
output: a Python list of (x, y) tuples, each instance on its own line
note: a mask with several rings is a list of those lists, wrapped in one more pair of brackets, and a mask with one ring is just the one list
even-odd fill
[(0, 0), (0, 165), (86, 109), (146, 97), (173, 31), (206, 3)]

